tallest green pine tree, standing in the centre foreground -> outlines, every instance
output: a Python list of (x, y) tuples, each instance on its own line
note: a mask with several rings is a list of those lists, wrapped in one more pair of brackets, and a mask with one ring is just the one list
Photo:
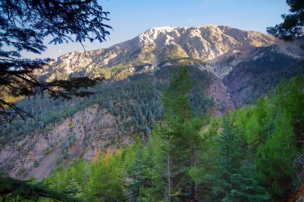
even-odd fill
[[(182, 171), (179, 172), (183, 175), (183, 179), (180, 178), (180, 190), (185, 190), (183, 186), (188, 186), (191, 193), (186, 191), (182, 193), (183, 197), (190, 197), (193, 201), (198, 201), (196, 183), (194, 180), (189, 181), (187, 179), (189, 179), (188, 171), (197, 169), (195, 147), (202, 140), (199, 131), (204, 125), (204, 119), (193, 117), (194, 113), (191, 111), (190, 99), (187, 96), (192, 87), (193, 84), (188, 70), (180, 66), (178, 74), (173, 73), (170, 87), (163, 92), (163, 100), (166, 109), (166, 121), (168, 125), (174, 128), (173, 138), (176, 148), (182, 151), (176, 153), (177, 156), (175, 157), (179, 161), (176, 164), (182, 167), (180, 169)], [(188, 169), (189, 167), (190, 169)]]

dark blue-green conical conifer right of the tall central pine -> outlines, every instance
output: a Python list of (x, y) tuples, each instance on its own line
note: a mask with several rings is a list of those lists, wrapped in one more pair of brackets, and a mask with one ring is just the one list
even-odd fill
[(244, 164), (244, 154), (236, 135), (234, 118), (223, 119), (223, 131), (218, 140), (219, 170), (213, 193), (222, 201), (266, 201), (270, 196), (252, 176), (253, 169)]

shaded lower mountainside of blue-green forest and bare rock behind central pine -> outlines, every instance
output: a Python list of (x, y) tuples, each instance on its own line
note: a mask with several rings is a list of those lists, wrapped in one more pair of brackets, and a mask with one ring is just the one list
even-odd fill
[[(208, 86), (216, 78), (194, 66), (187, 68), (194, 83), (189, 97), (196, 114), (223, 110), (206, 95)], [(69, 162), (82, 154), (91, 160), (98, 149), (105, 151), (106, 146), (117, 143), (128, 145), (135, 142), (136, 136), (150, 134), (156, 121), (163, 117), (161, 90), (168, 85), (174, 69), (177, 66), (164, 68), (153, 77), (142, 73), (130, 76), (128, 80), (106, 81), (97, 86), (90, 97), (71, 100), (46, 97), (36, 99), (34, 103), (32, 99), (21, 100), (19, 105), (32, 109), (37, 122), (16, 119), (0, 129), (4, 146), (1, 166), (15, 177), (24, 178), (28, 173), (35, 173), (41, 180), (56, 166), (57, 158)], [(97, 108), (92, 108), (96, 105)], [(38, 174), (33, 163), (45, 157), (48, 163), (41, 164), (48, 168)], [(37, 168), (40, 169), (42, 167)]]

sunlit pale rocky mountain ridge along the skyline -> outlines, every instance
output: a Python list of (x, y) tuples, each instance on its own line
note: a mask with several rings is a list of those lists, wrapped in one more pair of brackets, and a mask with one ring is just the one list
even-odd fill
[(206, 61), (213, 66), (209, 70), (222, 77), (225, 74), (218, 73), (217, 62), (223, 57), (242, 53), (242, 60), (246, 60), (255, 47), (278, 45), (280, 52), (302, 58), (301, 43), (299, 40), (285, 42), (268, 34), (227, 26), (157, 27), (109, 48), (65, 54), (51, 62), (41, 74), (48, 79), (58, 78), (58, 74), (63, 77), (75, 73), (90, 75), (94, 69), (111, 68), (122, 63), (130, 66), (145, 63), (157, 69), (168, 59), (193, 58)]

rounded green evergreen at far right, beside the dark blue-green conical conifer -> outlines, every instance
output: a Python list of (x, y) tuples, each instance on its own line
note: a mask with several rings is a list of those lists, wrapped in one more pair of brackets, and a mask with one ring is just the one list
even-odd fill
[(297, 169), (293, 161), (300, 155), (295, 143), (295, 134), (287, 113), (279, 114), (275, 130), (265, 144), (259, 147), (258, 171), (260, 178), (271, 188), (276, 199), (286, 197), (293, 187)]

